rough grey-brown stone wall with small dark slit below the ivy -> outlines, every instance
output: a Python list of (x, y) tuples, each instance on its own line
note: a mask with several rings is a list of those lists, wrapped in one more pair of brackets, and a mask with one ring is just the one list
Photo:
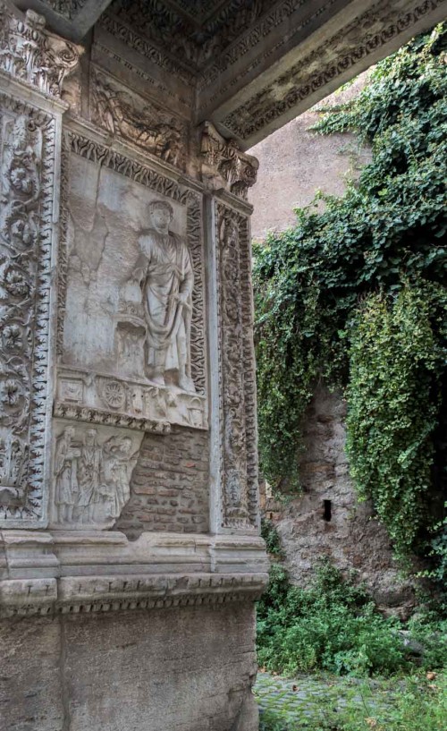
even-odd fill
[(355, 569), (379, 605), (406, 614), (414, 603), (413, 588), (401, 579), (371, 504), (357, 501), (344, 452), (344, 416), (341, 395), (317, 387), (304, 421), (303, 494), (274, 514), (286, 566), (292, 580), (304, 586), (316, 559), (330, 557), (343, 572)]

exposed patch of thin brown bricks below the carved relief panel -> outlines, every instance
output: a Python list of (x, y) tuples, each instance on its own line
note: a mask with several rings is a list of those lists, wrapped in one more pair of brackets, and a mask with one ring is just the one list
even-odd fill
[(208, 531), (209, 458), (206, 431), (173, 428), (146, 434), (132, 474), (131, 499), (115, 530), (128, 538), (141, 531)]

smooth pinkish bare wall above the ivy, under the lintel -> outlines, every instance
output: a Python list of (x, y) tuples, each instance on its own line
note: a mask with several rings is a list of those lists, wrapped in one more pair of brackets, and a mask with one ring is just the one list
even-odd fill
[[(321, 106), (335, 106), (355, 96), (365, 85), (367, 73), (345, 90), (326, 98)], [(254, 206), (253, 238), (268, 231), (283, 231), (295, 223), (293, 208), (307, 206), (316, 191), (342, 195), (346, 175), (355, 175), (369, 157), (358, 149), (352, 134), (317, 135), (310, 127), (318, 121), (311, 109), (259, 142), (250, 153), (259, 160), (257, 183), (249, 191)]]

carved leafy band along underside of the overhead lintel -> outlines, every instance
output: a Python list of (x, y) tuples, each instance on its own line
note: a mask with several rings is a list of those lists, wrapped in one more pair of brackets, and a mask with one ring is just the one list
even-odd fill
[[(368, 23), (380, 18), (379, 5), (375, 5), (367, 13), (364, 13), (350, 25), (343, 28), (333, 38), (331, 38), (324, 48), (317, 48), (305, 59), (294, 66), (289, 72), (283, 75), (281, 79), (275, 81), (274, 88), (263, 89), (256, 97), (249, 99), (244, 105), (239, 106), (230, 115), (223, 119), (222, 124), (231, 130), (237, 137), (247, 140), (258, 130), (262, 130), (268, 123), (273, 122), (278, 117), (286, 114), (286, 112), (297, 106), (302, 99), (307, 98), (315, 93), (317, 89), (321, 89), (329, 81), (332, 81), (343, 72), (346, 72), (350, 66), (354, 66), (361, 58), (374, 53), (377, 48), (384, 46), (389, 41), (398, 36), (403, 30), (407, 30), (415, 25), (427, 13), (433, 13), (436, 8), (442, 4), (444, 0), (426, 0), (425, 3), (417, 5), (413, 10), (402, 14), (395, 18), (395, 13), (390, 13), (385, 19), (385, 27), (374, 35), (367, 33), (361, 42), (350, 50), (349, 53), (339, 57), (335, 63), (326, 64), (323, 71), (318, 71), (308, 77), (304, 83), (294, 86), (283, 99), (275, 98), (274, 88), (283, 86), (284, 89), (290, 89), (293, 76), (297, 76), (299, 81), (299, 73), (301, 70), (311, 67), (316, 59), (324, 54), (325, 50), (331, 47), (338, 47), (344, 38), (349, 38), (350, 33), (357, 28), (368, 27)], [(386, 6), (386, 4), (385, 4)], [(388, 23), (388, 24), (386, 24)], [(267, 97), (266, 102), (263, 101)], [(249, 121), (245, 121), (249, 120)]]

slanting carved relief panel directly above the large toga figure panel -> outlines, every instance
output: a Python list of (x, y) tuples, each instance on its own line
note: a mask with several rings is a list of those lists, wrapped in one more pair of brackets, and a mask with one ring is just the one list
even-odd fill
[(184, 168), (188, 140), (184, 122), (131, 94), (95, 68), (90, 89), (92, 122), (151, 155)]

